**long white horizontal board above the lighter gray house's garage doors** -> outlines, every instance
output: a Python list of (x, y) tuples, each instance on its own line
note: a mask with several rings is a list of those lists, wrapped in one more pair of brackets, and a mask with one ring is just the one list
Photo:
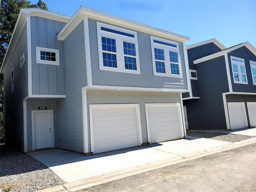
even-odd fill
[(164, 88), (147, 88), (147, 87), (121, 87), (121, 86), (104, 86), (104, 85), (87, 85), (82, 90), (118, 90), (118, 91), (148, 91), (148, 92), (188, 92), (188, 89), (164, 89)]

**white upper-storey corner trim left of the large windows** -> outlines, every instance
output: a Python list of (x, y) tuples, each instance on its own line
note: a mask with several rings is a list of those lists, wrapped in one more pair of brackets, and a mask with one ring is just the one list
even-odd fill
[(87, 84), (92, 85), (89, 23), (88, 23), (88, 16), (87, 15), (85, 15), (83, 17), (83, 26), (84, 26), (84, 45), (85, 45), (85, 54), (86, 54)]

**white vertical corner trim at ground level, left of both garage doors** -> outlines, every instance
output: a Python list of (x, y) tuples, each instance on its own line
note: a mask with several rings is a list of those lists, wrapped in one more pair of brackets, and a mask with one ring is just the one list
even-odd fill
[(88, 118), (87, 118), (87, 95), (86, 89), (82, 90), (82, 108), (83, 108), (83, 152), (89, 152), (88, 144)]

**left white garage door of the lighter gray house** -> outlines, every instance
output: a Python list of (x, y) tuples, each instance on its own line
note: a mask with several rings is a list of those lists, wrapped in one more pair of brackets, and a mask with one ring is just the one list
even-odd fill
[(92, 108), (91, 117), (94, 154), (139, 145), (135, 107)]

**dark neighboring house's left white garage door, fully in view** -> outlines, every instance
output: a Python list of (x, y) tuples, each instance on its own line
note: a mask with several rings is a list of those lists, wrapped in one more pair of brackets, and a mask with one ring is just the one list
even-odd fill
[(247, 127), (245, 104), (243, 102), (228, 102), (228, 113), (231, 129)]

